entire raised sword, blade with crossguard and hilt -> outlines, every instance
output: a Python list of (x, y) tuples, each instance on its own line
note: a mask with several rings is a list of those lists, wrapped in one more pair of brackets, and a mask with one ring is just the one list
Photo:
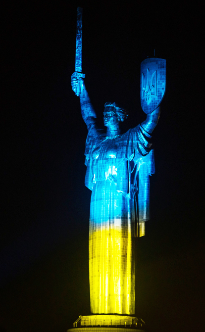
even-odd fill
[[(72, 77), (85, 77), (82, 74), (82, 19), (83, 19), (83, 8), (77, 8), (77, 31), (76, 31), (76, 51), (75, 51), (75, 72)], [(78, 81), (77, 90), (75, 93), (77, 96), (80, 95), (80, 82)]]

